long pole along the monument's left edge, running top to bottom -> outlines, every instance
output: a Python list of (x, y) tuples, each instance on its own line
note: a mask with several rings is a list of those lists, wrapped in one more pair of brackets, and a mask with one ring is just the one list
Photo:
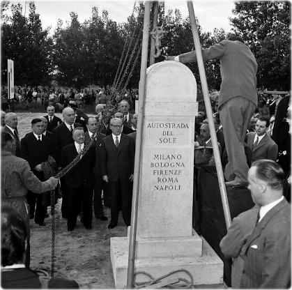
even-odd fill
[(140, 82), (139, 82), (139, 110), (138, 110), (138, 120), (137, 120), (136, 152), (135, 152), (135, 167), (134, 167), (135, 172), (134, 172), (133, 195), (132, 195), (132, 213), (131, 213), (130, 243), (129, 243), (129, 257), (128, 257), (128, 277), (127, 277), (128, 289), (132, 289), (133, 284), (134, 284), (140, 160), (141, 160), (142, 128), (143, 128), (144, 102), (145, 102), (144, 98), (145, 98), (145, 86), (146, 86), (146, 69), (147, 69), (147, 59), (148, 59), (150, 10), (151, 10), (151, 0), (146, 0), (145, 10), (144, 10), (144, 27), (143, 27), (142, 52), (141, 52), (141, 70), (140, 70)]

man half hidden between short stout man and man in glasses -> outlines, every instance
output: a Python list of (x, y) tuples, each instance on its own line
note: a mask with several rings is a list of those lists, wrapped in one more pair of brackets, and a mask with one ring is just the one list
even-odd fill
[[(88, 131), (85, 133), (85, 144), (88, 144), (91, 141), (91, 136), (98, 129), (98, 121), (95, 117), (89, 117), (86, 123)], [(106, 135), (98, 133), (95, 137), (95, 142), (92, 143), (93, 148), (95, 148), (95, 167), (93, 169), (95, 176), (95, 187), (94, 187), (94, 197), (93, 197), (93, 210), (94, 215), (99, 220), (107, 220), (107, 217), (103, 213), (102, 206), (102, 188), (104, 194), (105, 203), (109, 204), (109, 189), (107, 184), (102, 181), (102, 174), (100, 171), (100, 143)], [(105, 186), (104, 186), (105, 185)]]

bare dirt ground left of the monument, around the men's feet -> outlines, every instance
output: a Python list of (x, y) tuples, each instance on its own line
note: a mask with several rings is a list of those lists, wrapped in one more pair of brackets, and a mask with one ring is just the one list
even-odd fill
[[(17, 113), (20, 138), (31, 132), (31, 119), (44, 113)], [(56, 114), (61, 116), (61, 114)], [(118, 227), (107, 229), (108, 222), (95, 219), (92, 229), (87, 230), (77, 221), (74, 231), (67, 231), (67, 222), (61, 217), (61, 199), (56, 204), (55, 229), (55, 274), (75, 280), (79, 286), (114, 287), (114, 276), (109, 254), (109, 240), (113, 236), (127, 236), (127, 227), (119, 217)], [(31, 268), (51, 271), (52, 216), (45, 219), (45, 227), (30, 220), (31, 225)], [(110, 219), (110, 209), (105, 207), (105, 215)]]

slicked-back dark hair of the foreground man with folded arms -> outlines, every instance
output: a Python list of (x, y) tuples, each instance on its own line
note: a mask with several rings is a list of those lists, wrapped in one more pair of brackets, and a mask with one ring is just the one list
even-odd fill
[(256, 178), (266, 182), (271, 190), (283, 190), (284, 171), (275, 161), (268, 159), (256, 160), (252, 163), (252, 167), (256, 167)]

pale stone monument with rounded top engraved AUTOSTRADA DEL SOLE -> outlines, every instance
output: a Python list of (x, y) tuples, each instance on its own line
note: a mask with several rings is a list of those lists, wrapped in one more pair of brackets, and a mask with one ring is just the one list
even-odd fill
[[(156, 278), (184, 268), (194, 284), (219, 284), (222, 260), (192, 229), (197, 112), (197, 83), (187, 66), (164, 61), (147, 69), (135, 272)], [(126, 286), (128, 247), (128, 237), (111, 238), (116, 287)]]

